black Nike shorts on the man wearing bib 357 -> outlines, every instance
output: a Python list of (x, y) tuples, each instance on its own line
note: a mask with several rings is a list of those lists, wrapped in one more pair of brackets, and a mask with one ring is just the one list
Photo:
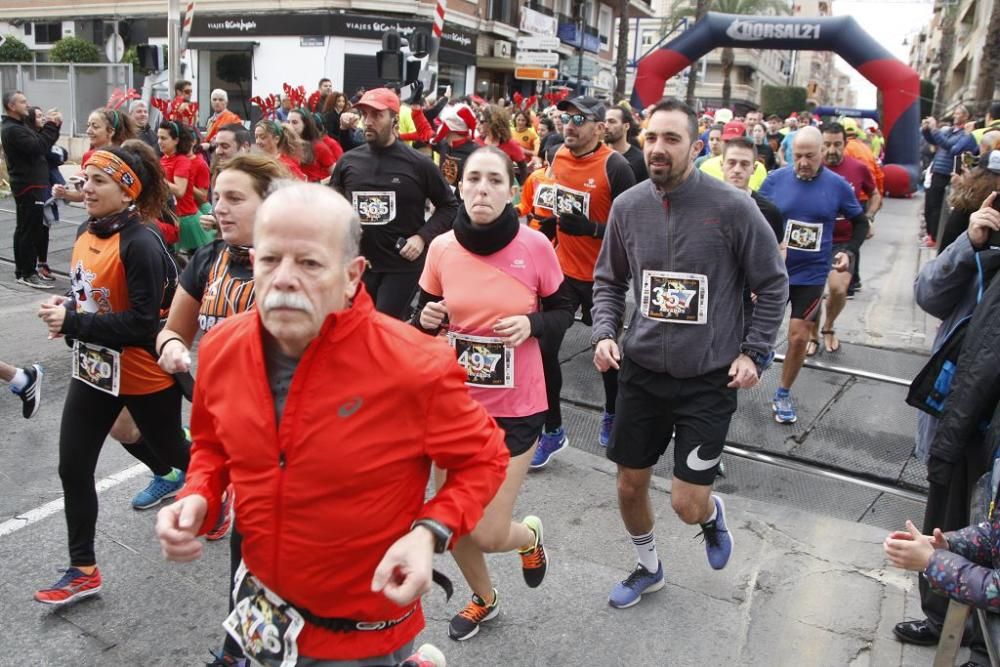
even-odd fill
[(679, 379), (622, 359), (608, 458), (626, 468), (651, 468), (674, 437), (674, 477), (709, 485), (722, 460), (736, 390), (729, 368)]

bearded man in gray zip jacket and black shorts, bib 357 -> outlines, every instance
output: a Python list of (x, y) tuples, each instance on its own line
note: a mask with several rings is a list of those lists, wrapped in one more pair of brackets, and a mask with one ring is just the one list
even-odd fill
[[(756, 204), (694, 169), (701, 141), (691, 108), (660, 102), (644, 134), (650, 179), (615, 200), (594, 272), (594, 364), (621, 367), (608, 458), (639, 561), (611, 592), (618, 608), (664, 584), (649, 483), (672, 433), (673, 509), (701, 525), (714, 569), (729, 561), (733, 541), (712, 482), (736, 391), (770, 362), (788, 300), (785, 263)], [(619, 351), (630, 280), (638, 308)], [(747, 287), (756, 304), (745, 323)]]

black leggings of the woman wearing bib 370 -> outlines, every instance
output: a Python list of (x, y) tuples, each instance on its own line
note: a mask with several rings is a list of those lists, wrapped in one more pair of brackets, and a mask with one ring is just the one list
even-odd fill
[(112, 396), (71, 380), (59, 427), (59, 478), (66, 499), (69, 559), (73, 566), (97, 562), (94, 472), (104, 439), (122, 408), (128, 408), (149, 443), (148, 448), (134, 450), (134, 455), (155, 457), (140, 459), (151, 469), (166, 464), (187, 470), (190, 450), (181, 428), (181, 392), (176, 385), (154, 394)]

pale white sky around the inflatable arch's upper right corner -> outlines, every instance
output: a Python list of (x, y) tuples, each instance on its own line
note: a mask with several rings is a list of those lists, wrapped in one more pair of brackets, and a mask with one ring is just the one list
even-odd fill
[[(868, 34), (904, 63), (909, 62), (910, 47), (903, 46), (903, 40), (908, 38), (913, 42), (920, 29), (930, 23), (933, 9), (932, 0), (833, 0), (834, 16), (853, 16)], [(837, 69), (851, 76), (851, 85), (858, 93), (858, 108), (874, 109), (875, 86), (839, 56)]]

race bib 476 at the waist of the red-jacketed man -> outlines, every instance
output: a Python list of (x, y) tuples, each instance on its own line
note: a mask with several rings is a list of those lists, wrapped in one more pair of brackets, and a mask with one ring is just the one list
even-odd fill
[(268, 590), (240, 563), (233, 579), (233, 611), (222, 622), (252, 664), (293, 667), (299, 660), (297, 639), (302, 616)]

